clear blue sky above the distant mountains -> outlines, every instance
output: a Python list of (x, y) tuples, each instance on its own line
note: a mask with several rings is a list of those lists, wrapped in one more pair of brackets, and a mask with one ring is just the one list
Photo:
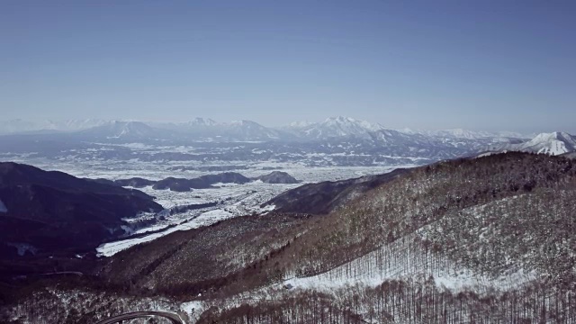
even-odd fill
[(576, 1), (0, 1), (1, 119), (576, 126)]

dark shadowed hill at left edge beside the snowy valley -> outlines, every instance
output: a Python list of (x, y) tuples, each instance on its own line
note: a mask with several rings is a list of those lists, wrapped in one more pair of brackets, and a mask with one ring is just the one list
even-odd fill
[(86, 252), (123, 234), (122, 218), (162, 209), (138, 190), (10, 162), (0, 163), (0, 201), (3, 259)]

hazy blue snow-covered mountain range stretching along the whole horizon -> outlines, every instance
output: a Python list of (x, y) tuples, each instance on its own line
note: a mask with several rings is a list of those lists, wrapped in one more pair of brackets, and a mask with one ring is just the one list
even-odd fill
[[(4, 124), (10, 124), (4, 123)], [(14, 132), (18, 125), (25, 130)], [(33, 127), (32, 127), (33, 126)], [(16, 128), (15, 128), (16, 127)], [(144, 121), (16, 121), (0, 136), (0, 151), (38, 157), (117, 158), (302, 162), (309, 166), (374, 166), (424, 164), (509, 150), (567, 154), (576, 140), (566, 132), (527, 138), (513, 132), (472, 130), (390, 130), (378, 123), (347, 117), (322, 122), (293, 122), (269, 128), (255, 121), (217, 122), (195, 118), (184, 122)], [(118, 145), (142, 143), (157, 151)], [(109, 145), (105, 149), (103, 145)], [(194, 154), (166, 151), (193, 147)], [(162, 149), (160, 149), (162, 148)]]

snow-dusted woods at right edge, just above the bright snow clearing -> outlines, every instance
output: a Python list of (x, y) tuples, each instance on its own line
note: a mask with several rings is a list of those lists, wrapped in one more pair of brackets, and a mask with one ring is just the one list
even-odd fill
[(423, 231), (427, 243), (477, 273), (535, 272), (576, 289), (576, 190), (529, 194), (446, 215)]

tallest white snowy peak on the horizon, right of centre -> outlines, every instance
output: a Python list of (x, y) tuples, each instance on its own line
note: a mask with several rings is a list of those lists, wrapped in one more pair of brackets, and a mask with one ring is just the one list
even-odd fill
[(329, 117), (322, 122), (296, 122), (285, 126), (283, 130), (306, 139), (329, 139), (338, 137), (369, 138), (369, 133), (385, 130), (378, 123), (360, 121), (349, 117)]

